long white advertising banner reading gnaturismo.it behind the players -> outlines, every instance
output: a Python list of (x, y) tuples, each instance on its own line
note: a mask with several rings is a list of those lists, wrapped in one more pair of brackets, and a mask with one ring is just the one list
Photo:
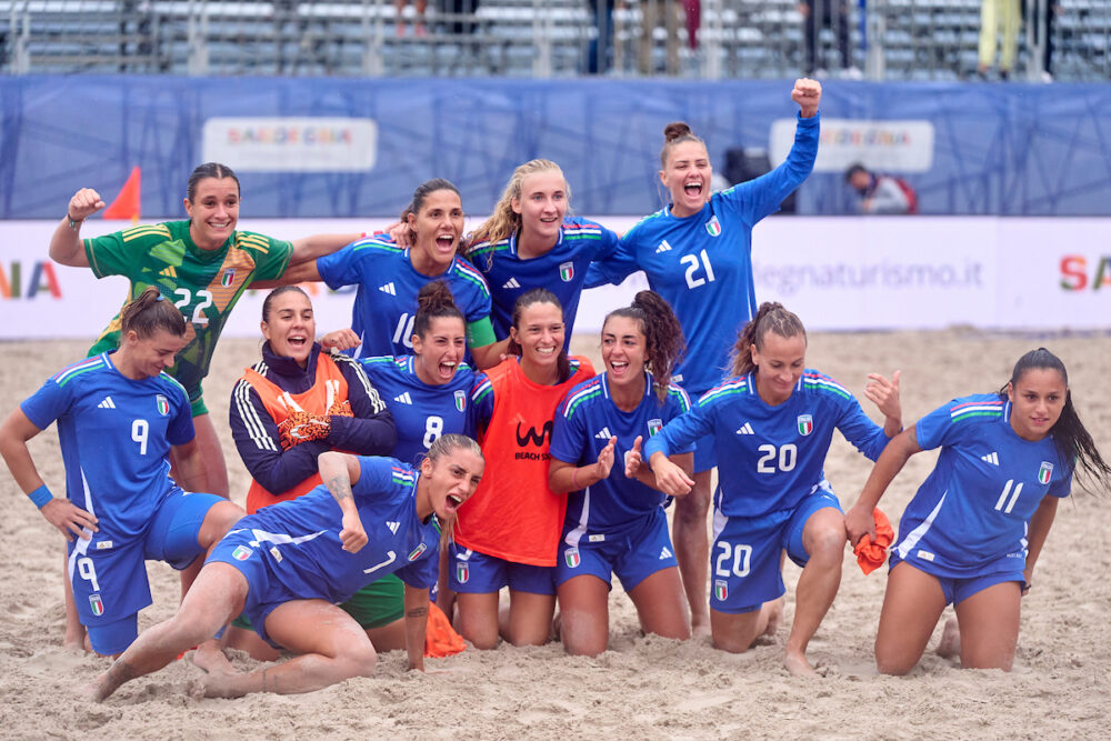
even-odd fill
[[(599, 218), (617, 231), (635, 219)], [(479, 219), (470, 219), (472, 228)], [(388, 219), (244, 219), (284, 239), (374, 231)], [(86, 237), (121, 228), (93, 219)], [(120, 308), (127, 282), (47, 258), (57, 222), (0, 222), (0, 339), (94, 338)], [(788, 218), (753, 234), (757, 299), (778, 300), (812, 330), (1101, 329), (1111, 327), (1111, 219)], [(354, 289), (308, 287), (324, 331), (351, 320)], [(588, 290), (577, 331), (647, 288), (643, 274)], [(738, 288), (738, 290), (742, 290)], [(266, 291), (248, 291), (224, 330), (257, 337)]]

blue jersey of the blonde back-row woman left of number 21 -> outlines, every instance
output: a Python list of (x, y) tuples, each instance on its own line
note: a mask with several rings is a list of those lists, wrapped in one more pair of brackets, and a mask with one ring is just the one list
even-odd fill
[(517, 253), (516, 233), (498, 242), (472, 246), (467, 257), (486, 274), (490, 286), (491, 319), (498, 339), (509, 337), (517, 299), (534, 288), (547, 288), (563, 304), (567, 324), (563, 349), (569, 349), (587, 270), (592, 261), (609, 259), (617, 246), (615, 232), (593, 221), (571, 217), (563, 219), (556, 247), (536, 258), (526, 259)]

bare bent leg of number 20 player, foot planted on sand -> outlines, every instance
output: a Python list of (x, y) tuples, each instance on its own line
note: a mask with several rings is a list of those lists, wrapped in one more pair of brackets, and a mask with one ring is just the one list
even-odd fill
[(814, 673), (807, 661), (807, 647), (841, 585), (844, 515), (832, 508), (811, 514), (802, 530), (802, 545), (809, 560), (795, 589), (794, 623), (787, 638), (783, 663), (792, 674), (804, 677)]

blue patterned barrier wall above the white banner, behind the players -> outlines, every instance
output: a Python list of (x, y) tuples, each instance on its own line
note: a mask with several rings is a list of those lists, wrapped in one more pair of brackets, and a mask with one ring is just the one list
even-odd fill
[[(112, 197), (142, 168), (144, 217), (182, 213), (212, 117), (369, 118), (364, 172), (242, 174), (252, 217), (396, 214), (430, 177), (486, 213), (514, 166), (560, 162), (580, 213), (661, 206), (659, 150), (683, 119), (715, 168), (734, 147), (768, 147), (789, 118), (790, 81), (430, 80), (180, 77), (0, 78), (0, 218), (59, 217), (78, 187)], [(825, 83), (827, 119), (921, 120), (932, 167), (905, 176), (922, 213), (1111, 214), (1111, 86)], [(814, 173), (799, 212), (851, 210), (839, 173)]]

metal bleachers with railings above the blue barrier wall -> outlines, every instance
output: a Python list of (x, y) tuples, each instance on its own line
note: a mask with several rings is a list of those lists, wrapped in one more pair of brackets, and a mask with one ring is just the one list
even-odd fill
[[(981, 0), (418, 4), (0, 0), (0, 72), (959, 80), (979, 66)], [(1111, 80), (1111, 0), (1027, 0), (1018, 48), (1012, 79)]]

